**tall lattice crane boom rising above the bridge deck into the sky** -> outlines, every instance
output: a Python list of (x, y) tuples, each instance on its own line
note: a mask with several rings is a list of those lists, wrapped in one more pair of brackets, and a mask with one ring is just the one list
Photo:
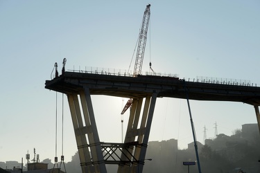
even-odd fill
[(139, 33), (137, 57), (135, 59), (135, 69), (133, 73), (134, 77), (137, 77), (137, 75), (141, 74), (141, 66), (143, 65), (144, 51), (146, 49), (146, 39), (147, 39), (149, 20), (150, 20), (150, 4), (146, 6), (146, 10), (144, 11), (144, 18)]

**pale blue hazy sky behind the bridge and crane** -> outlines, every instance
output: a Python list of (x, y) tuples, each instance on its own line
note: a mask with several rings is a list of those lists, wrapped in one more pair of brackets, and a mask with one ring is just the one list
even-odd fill
[[(55, 92), (44, 89), (58, 62), (66, 69), (128, 70), (146, 5), (150, 28), (143, 72), (180, 78), (198, 76), (259, 82), (260, 2), (255, 1), (7, 1), (0, 0), (0, 161), (21, 161), (33, 148), (55, 157)], [(134, 57), (135, 58), (135, 57)], [(130, 66), (132, 70), (134, 64)], [(76, 140), (64, 95), (64, 156)], [(121, 109), (127, 98), (92, 97), (99, 137), (121, 142)], [(257, 123), (254, 107), (241, 102), (191, 100), (198, 140), (232, 135)], [(125, 113), (125, 129), (129, 112)], [(58, 159), (62, 152), (62, 94), (58, 93)], [(175, 138), (181, 149), (193, 141), (186, 100), (158, 98), (150, 140)]]

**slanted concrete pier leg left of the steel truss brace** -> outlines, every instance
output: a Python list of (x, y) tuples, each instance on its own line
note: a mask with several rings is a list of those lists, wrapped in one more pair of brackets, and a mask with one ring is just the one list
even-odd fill
[(106, 173), (89, 89), (84, 87), (84, 91), (79, 91), (82, 111), (80, 110), (78, 93), (69, 93), (67, 97), (83, 173)]

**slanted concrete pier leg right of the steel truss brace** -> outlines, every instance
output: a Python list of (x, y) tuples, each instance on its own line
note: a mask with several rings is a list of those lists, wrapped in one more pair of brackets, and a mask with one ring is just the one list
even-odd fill
[[(156, 98), (157, 93), (146, 96), (142, 114), (141, 107), (144, 98), (133, 99), (124, 143), (137, 143), (137, 145), (135, 145), (135, 148), (130, 146), (122, 150), (121, 161), (126, 161), (130, 158), (132, 162), (121, 162), (121, 164), (119, 164), (118, 173), (143, 171)], [(141, 120), (141, 122), (139, 122), (139, 120)]]

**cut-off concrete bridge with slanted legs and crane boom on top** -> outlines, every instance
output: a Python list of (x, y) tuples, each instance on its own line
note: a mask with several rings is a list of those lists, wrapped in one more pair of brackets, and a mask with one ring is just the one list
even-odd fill
[[(260, 125), (260, 87), (215, 80), (187, 81), (180, 80), (174, 75), (162, 76), (155, 73), (141, 75), (149, 19), (150, 4), (146, 6), (144, 12), (133, 74), (110, 71), (65, 71), (63, 64), (62, 73), (58, 75), (58, 65), (55, 63), (55, 78), (46, 80), (46, 89), (67, 95), (80, 165), (84, 173), (105, 173), (106, 164), (119, 165), (118, 173), (143, 171), (157, 98), (187, 99), (189, 94), (191, 100), (244, 102), (254, 106)], [(122, 111), (124, 113), (131, 107), (123, 143), (100, 141), (91, 95), (130, 98)]]

